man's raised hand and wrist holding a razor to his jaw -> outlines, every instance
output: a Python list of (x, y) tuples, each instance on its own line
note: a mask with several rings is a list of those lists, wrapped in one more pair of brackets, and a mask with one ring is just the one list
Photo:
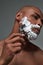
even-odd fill
[(13, 33), (4, 40), (4, 47), (1, 56), (1, 59), (4, 60), (4, 63), (8, 64), (8, 62), (11, 61), (13, 56), (21, 50), (22, 44), (25, 44), (24, 34), (20, 33)]

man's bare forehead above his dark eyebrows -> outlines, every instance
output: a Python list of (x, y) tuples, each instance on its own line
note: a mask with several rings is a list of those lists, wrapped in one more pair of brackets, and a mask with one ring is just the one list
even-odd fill
[(37, 14), (39, 15), (41, 18), (43, 17), (43, 14), (41, 12), (40, 9), (38, 8), (35, 8), (35, 7), (27, 7), (27, 8), (24, 8), (24, 12), (26, 15), (29, 15), (29, 14)]

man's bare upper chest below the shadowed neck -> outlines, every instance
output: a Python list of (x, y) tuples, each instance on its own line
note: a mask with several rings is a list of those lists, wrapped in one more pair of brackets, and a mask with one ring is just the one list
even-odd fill
[(43, 65), (43, 54), (40, 52), (31, 54), (30, 52), (21, 51), (14, 56), (9, 65)]

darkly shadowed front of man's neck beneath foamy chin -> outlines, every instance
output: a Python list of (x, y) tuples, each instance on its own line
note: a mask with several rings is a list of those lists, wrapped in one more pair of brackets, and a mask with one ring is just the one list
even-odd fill
[(41, 50), (38, 46), (34, 45), (33, 43), (29, 42), (28, 40), (26, 40), (26, 44), (23, 47), (23, 50), (25, 51), (30, 51), (30, 52), (37, 52), (39, 50)]

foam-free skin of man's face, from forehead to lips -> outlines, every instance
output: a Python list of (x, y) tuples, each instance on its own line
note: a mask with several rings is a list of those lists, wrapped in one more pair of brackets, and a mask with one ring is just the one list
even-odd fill
[[(42, 13), (39, 11), (39, 9), (28, 9), (24, 16), (26, 16), (28, 18), (28, 20), (32, 23), (32, 24), (37, 24), (40, 26), (40, 29), (43, 25), (43, 18), (42, 18)], [(40, 29), (37, 28), (33, 28), (32, 30), (36, 33), (40, 32)]]

